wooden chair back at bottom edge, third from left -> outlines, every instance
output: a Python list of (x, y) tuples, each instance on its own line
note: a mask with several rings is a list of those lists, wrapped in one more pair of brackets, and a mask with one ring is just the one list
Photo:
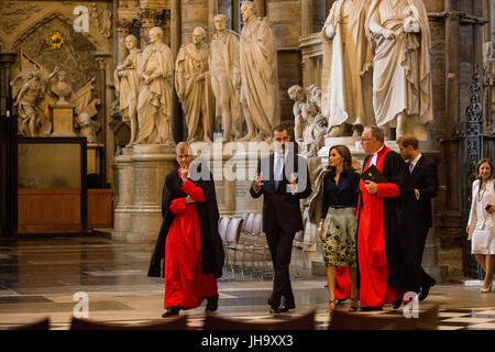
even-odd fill
[(315, 310), (288, 320), (252, 322), (208, 315), (205, 330), (315, 330)]

